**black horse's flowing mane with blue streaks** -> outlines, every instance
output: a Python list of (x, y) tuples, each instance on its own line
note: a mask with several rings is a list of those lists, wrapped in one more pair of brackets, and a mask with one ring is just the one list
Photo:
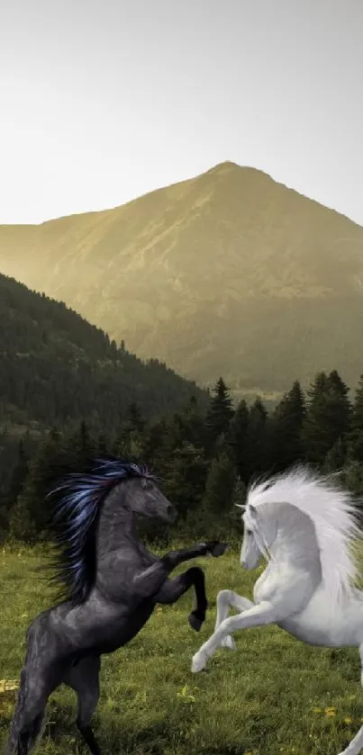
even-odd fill
[(104, 499), (132, 477), (154, 479), (148, 468), (115, 456), (92, 460), (83, 472), (70, 472), (50, 490), (50, 531), (54, 558), (52, 584), (59, 598), (79, 605), (95, 582), (95, 528)]

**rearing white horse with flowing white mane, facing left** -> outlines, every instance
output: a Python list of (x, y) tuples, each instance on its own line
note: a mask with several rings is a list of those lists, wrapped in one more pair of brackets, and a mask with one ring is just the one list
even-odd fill
[[(195, 653), (192, 671), (204, 669), (218, 646), (235, 650), (236, 629), (277, 624), (311, 645), (358, 647), (363, 685), (363, 592), (352, 553), (362, 531), (353, 498), (331, 478), (297, 468), (251, 486), (240, 508), (240, 564), (256, 569), (263, 555), (268, 566), (253, 602), (228, 589), (218, 594), (214, 633)], [(240, 613), (227, 618), (230, 606)], [(363, 726), (340, 755), (362, 749)]]

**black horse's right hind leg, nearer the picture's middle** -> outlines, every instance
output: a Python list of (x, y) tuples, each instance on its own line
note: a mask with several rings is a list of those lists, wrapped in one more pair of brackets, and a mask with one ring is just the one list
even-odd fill
[(78, 698), (77, 729), (83, 736), (92, 755), (101, 755), (93, 733), (91, 721), (100, 697), (99, 656), (86, 656), (70, 666), (63, 676), (63, 683), (74, 689)]

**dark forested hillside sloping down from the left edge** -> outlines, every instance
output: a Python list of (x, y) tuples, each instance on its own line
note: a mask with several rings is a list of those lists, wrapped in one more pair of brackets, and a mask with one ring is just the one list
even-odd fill
[(166, 416), (207, 394), (164, 364), (143, 364), (99, 328), (0, 274), (0, 431), (90, 427), (120, 431), (130, 403), (144, 418)]

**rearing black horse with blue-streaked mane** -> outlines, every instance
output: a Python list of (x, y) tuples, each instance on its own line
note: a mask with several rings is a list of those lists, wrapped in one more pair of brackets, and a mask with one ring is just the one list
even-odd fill
[(222, 555), (218, 541), (149, 553), (136, 534), (135, 515), (171, 524), (176, 509), (144, 466), (113, 457), (91, 472), (69, 474), (50, 494), (59, 546), (53, 580), (62, 602), (42, 612), (27, 631), (27, 652), (5, 755), (27, 755), (38, 739), (50, 693), (66, 684), (77, 693), (77, 728), (89, 751), (100, 755), (91, 728), (99, 698), (100, 656), (129, 643), (157, 603), (175, 603), (192, 585), (196, 606), (189, 624), (199, 631), (208, 607), (204, 571), (194, 567), (168, 580), (189, 559)]

